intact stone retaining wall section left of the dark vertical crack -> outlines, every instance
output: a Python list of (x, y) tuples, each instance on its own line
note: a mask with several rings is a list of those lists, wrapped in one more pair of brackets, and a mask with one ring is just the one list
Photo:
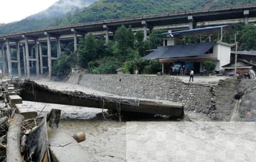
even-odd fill
[[(77, 83), (77, 76), (72, 77), (70, 83)], [(121, 96), (170, 100), (205, 114), (212, 106), (209, 85), (187, 84), (169, 76), (83, 74), (79, 85)]]

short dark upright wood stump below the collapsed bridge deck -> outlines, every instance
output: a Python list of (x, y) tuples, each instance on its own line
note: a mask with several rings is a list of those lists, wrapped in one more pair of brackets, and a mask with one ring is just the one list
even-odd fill
[(47, 115), (47, 122), (50, 122), (49, 127), (53, 129), (59, 128), (61, 110), (52, 109)]

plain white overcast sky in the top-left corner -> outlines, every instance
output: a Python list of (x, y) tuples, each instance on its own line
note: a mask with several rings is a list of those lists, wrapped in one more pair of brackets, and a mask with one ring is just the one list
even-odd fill
[(58, 0), (1, 0), (0, 24), (21, 19), (47, 9)]

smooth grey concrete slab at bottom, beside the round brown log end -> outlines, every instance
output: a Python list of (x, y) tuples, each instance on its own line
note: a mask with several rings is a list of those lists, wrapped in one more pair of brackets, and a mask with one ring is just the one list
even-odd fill
[(83, 150), (72, 136), (60, 129), (48, 128), (48, 140), (53, 161), (98, 161)]

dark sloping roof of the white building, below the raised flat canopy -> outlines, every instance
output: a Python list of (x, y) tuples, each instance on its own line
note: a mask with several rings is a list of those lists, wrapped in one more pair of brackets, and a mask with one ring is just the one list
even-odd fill
[(187, 44), (175, 46), (163, 46), (151, 52), (145, 59), (160, 59), (160, 58), (177, 58), (177, 57), (195, 57), (209, 51), (216, 43), (207, 42), (200, 44)]

